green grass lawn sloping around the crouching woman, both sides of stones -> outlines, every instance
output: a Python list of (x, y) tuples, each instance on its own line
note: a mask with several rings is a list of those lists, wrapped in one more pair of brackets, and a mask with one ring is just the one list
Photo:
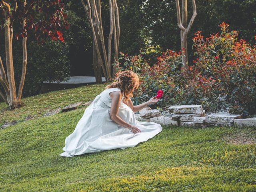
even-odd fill
[[(1, 112), (1, 118), (22, 120), (27, 114), (41, 115), (50, 108), (86, 102), (104, 86), (26, 98), (26, 106)], [(62, 157), (65, 138), (84, 109), (0, 130), (0, 191), (256, 191), (256, 144), (226, 141), (240, 134), (255, 138), (255, 127), (164, 126), (154, 138), (134, 148)]]

